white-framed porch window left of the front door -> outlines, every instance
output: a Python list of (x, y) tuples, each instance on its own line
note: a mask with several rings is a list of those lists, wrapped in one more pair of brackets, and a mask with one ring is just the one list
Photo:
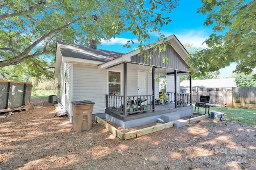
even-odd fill
[(108, 71), (108, 94), (121, 94), (121, 72)]

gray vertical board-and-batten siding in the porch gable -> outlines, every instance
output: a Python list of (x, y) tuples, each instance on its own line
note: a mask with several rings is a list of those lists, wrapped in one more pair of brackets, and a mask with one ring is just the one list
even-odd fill
[[(160, 53), (160, 58), (158, 58), (158, 50), (157, 51), (153, 51), (154, 49), (148, 49), (147, 51), (149, 51), (150, 54), (152, 54), (153, 56), (150, 59), (145, 59), (143, 57), (143, 55), (134, 55), (131, 57), (131, 62), (134, 63), (145, 63), (144, 64), (148, 64), (148, 65), (154, 65), (154, 66), (160, 66), (160, 67), (164, 67), (164, 68), (173, 68), (176, 70), (182, 70), (182, 71), (189, 71), (189, 67), (188, 64), (186, 64), (186, 62), (180, 57), (180, 55), (172, 48), (171, 45), (168, 45), (166, 47), (166, 51), (162, 51)], [(168, 63), (166, 62), (162, 62), (162, 55), (165, 55), (168, 57), (169, 61)]]

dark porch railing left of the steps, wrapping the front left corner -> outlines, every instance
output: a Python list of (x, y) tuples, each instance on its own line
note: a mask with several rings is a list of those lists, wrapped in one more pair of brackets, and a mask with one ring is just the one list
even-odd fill
[[(123, 115), (154, 111), (151, 105), (152, 100), (153, 95), (127, 96), (124, 102), (124, 96), (106, 94), (106, 109), (113, 109)], [(126, 110), (124, 110), (124, 103), (126, 103)]]

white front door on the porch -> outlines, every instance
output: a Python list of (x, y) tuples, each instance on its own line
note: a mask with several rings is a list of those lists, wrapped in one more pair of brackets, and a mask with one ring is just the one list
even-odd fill
[(138, 71), (138, 95), (148, 94), (148, 72)]

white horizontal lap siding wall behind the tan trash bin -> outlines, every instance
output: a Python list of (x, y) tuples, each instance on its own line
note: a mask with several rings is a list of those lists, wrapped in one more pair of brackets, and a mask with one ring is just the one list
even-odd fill
[(94, 102), (93, 114), (104, 113), (107, 94), (107, 70), (98, 66), (74, 64), (73, 101), (90, 100)]

